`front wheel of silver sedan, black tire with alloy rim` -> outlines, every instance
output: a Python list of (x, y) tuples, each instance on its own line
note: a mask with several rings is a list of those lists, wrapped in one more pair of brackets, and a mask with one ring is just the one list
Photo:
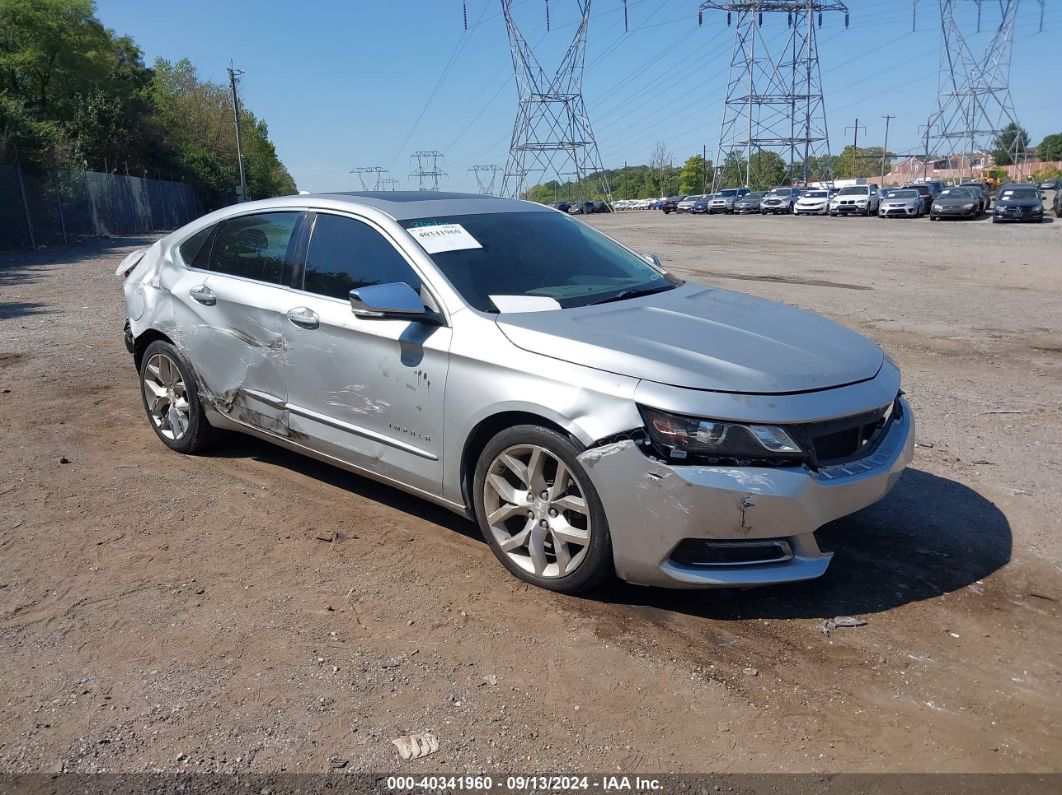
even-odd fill
[[(526, 473), (535, 451), (541, 468), (528, 483), (527, 476), (517, 470), (524, 467)], [(580, 452), (556, 431), (515, 426), (486, 444), (473, 480), (476, 521), (501, 565), (519, 580), (562, 593), (582, 593), (615, 576), (604, 506), (578, 461)], [(515, 468), (502, 456), (508, 456)], [(562, 491), (554, 492), (560, 465), (566, 468), (568, 482)], [(542, 499), (543, 495), (546, 499)], [(568, 501), (567, 506), (556, 508), (562, 499)], [(500, 518), (492, 524), (490, 517), (499, 514)], [(561, 540), (555, 531), (569, 537)], [(578, 539), (583, 536), (587, 539), (580, 542)], [(509, 551), (502, 549), (503, 542), (518, 542), (521, 537), (527, 542)], [(564, 555), (559, 555), (562, 549)], [(573, 568), (564, 570), (570, 566)]]

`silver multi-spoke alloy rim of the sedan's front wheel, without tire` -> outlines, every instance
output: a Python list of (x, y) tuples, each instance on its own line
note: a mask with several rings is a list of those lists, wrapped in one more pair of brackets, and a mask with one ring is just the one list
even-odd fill
[(491, 533), (530, 574), (567, 576), (586, 558), (590, 516), (575, 473), (538, 445), (514, 445), (491, 462), (483, 484)]

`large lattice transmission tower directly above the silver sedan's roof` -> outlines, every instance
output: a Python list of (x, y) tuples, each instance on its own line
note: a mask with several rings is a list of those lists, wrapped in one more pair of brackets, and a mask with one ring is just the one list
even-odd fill
[[(562, 174), (570, 172), (580, 198), (586, 200), (593, 193), (612, 202), (609, 177), (583, 102), (583, 64), (590, 0), (575, 2), (581, 20), (561, 65), (550, 75), (538, 63), (513, 19), (513, 0), (501, 0), (519, 92), (509, 159), (501, 177), (502, 195), (519, 197), (532, 186), (549, 179), (563, 183)], [(546, 14), (548, 30), (548, 0)]]

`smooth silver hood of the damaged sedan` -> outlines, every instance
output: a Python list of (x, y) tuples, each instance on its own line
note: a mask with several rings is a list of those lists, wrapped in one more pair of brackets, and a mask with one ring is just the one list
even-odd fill
[(870, 340), (786, 304), (686, 283), (655, 295), (501, 314), (517, 347), (695, 390), (769, 395), (864, 381), (885, 355)]

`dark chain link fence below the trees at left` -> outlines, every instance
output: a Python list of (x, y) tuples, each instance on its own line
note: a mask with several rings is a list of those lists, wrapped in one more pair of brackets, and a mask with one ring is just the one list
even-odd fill
[(175, 229), (201, 214), (185, 183), (0, 166), (0, 250)]

